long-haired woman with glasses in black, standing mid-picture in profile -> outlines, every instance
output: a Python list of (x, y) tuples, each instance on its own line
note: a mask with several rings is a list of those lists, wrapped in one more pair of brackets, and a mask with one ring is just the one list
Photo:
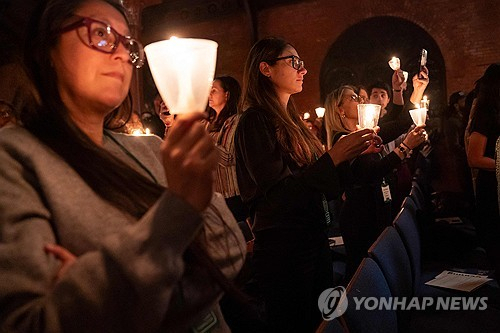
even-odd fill
[(318, 327), (318, 297), (333, 287), (327, 201), (343, 192), (338, 169), (375, 139), (361, 130), (324, 153), (291, 98), (306, 73), (287, 41), (253, 45), (235, 134), (238, 185), (254, 221), (254, 271), (272, 332)]

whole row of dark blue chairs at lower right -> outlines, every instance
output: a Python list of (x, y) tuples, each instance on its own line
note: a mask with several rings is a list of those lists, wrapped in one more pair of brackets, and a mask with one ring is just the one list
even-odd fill
[[(426, 209), (426, 197), (417, 182), (403, 202), (393, 225), (387, 227), (368, 250), (346, 288), (348, 306), (339, 318), (324, 321), (317, 333), (335, 332), (498, 332), (500, 309), (495, 305), (498, 286), (482, 292), (461, 292), (430, 287), (424, 284), (441, 270), (450, 268), (445, 262), (422, 268), (421, 233), (417, 215)], [(484, 311), (407, 311), (357, 308), (356, 300), (375, 297), (377, 300), (412, 297), (489, 296)], [(373, 299), (372, 299), (373, 300)], [(374, 305), (374, 304), (372, 304)]]

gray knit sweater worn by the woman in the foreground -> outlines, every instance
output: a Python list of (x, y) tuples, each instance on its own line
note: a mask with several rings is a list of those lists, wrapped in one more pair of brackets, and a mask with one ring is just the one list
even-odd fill
[[(125, 147), (165, 183), (159, 138), (112, 135), (119, 144), (107, 138), (106, 149), (148, 176)], [(195, 237), (236, 275), (245, 243), (219, 194), (200, 217), (166, 190), (137, 221), (25, 129), (0, 129), (0, 332), (187, 332), (210, 309), (190, 311), (207, 300), (220, 321), (212, 331), (228, 331), (219, 288), (183, 260)], [(47, 243), (78, 257), (55, 285), (60, 262)]]

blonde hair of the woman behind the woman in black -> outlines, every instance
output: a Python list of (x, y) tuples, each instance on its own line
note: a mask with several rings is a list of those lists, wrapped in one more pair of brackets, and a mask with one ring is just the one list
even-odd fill
[(326, 129), (326, 146), (328, 149), (333, 147), (333, 136), (338, 132), (349, 133), (349, 130), (340, 116), (340, 104), (342, 103), (342, 98), (344, 98), (344, 93), (346, 90), (352, 90), (356, 92), (354, 86), (341, 86), (326, 96), (325, 101), (325, 129)]

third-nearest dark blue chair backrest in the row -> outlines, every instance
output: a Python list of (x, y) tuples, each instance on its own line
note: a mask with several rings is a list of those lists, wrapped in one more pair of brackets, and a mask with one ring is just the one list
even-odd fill
[(417, 221), (409, 209), (403, 208), (394, 219), (393, 225), (401, 236), (410, 259), (413, 293), (415, 294), (420, 281), (422, 251)]

